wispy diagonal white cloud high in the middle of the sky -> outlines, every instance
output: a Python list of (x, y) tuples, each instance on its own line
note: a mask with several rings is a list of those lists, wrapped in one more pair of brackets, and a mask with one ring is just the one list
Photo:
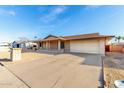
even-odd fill
[(58, 18), (60, 14), (65, 12), (67, 10), (66, 6), (56, 6), (54, 8), (48, 9), (48, 14), (42, 15), (41, 16), (41, 21), (43, 22), (52, 22)]

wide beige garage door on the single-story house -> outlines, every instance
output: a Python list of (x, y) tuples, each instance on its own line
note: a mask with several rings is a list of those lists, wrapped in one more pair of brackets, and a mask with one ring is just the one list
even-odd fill
[(99, 53), (99, 49), (99, 41), (97, 40), (70, 41), (70, 52)]

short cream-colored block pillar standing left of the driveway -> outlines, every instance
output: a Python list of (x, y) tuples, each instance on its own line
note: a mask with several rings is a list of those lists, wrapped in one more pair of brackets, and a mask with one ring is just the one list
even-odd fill
[(19, 61), (21, 60), (21, 48), (12, 48), (11, 49), (11, 61)]

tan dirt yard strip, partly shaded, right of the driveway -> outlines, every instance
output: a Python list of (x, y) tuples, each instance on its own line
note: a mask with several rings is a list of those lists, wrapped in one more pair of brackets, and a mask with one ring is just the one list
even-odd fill
[(107, 53), (104, 58), (104, 76), (106, 87), (113, 88), (115, 80), (124, 79), (124, 54)]

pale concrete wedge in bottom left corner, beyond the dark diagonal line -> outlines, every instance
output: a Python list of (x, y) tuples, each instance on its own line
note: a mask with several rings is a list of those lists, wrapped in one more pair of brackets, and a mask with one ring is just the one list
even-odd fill
[(27, 88), (15, 75), (0, 66), (0, 88)]

